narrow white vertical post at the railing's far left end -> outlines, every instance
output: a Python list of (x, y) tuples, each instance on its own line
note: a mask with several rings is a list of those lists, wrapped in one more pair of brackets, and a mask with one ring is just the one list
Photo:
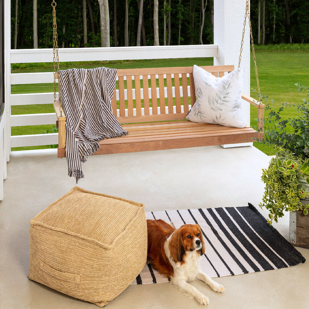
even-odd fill
[(10, 160), (11, 152), (11, 103), (10, 103), (10, 94), (11, 94), (11, 1), (4, 1), (4, 91), (5, 91), (5, 109), (6, 109), (6, 129), (4, 130), (6, 136), (5, 140), (5, 161)]

